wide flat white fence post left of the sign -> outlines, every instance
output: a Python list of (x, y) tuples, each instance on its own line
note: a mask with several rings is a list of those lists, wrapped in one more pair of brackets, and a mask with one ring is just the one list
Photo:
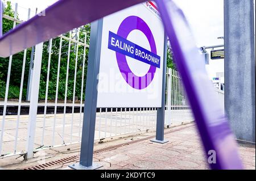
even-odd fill
[(43, 55), (43, 43), (35, 47), (34, 71), (32, 73), (31, 99), (30, 99), (30, 115), (28, 119), (28, 136), (27, 136), (27, 159), (34, 156), (34, 140), (36, 129), (36, 115), (38, 113), (38, 95), (40, 85), (40, 74)]

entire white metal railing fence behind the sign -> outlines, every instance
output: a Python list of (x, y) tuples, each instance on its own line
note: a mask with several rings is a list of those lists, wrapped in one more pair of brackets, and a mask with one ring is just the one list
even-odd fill
[[(16, 23), (22, 23), (17, 19), (17, 9), (18, 5), (15, 5), (14, 18), (4, 16), (5, 19), (14, 22), (13, 27), (16, 26)], [(28, 18), (30, 18), (30, 10), (28, 10)], [(30, 102), (26, 102), (22, 96), (23, 91), (26, 90), (23, 86), (24, 75), (27, 73), (26, 66), (30, 65), (27, 60), (27, 50), (24, 50), (22, 59), (16, 60), (22, 64), (20, 67), (22, 73), (20, 75), (19, 99), (15, 101), (8, 99), (11, 92), (9, 90), (12, 81), (11, 71), (14, 69), (12, 66), (13, 56), (9, 57), (6, 86), (1, 87), (1, 89), (5, 89), (5, 98), (4, 101), (0, 101), (0, 108), (2, 107), (0, 158), (80, 142), (84, 116), (82, 112), (86, 82), (86, 56), (89, 48), (89, 37), (86, 33), (80, 32), (84, 30), (83, 28), (77, 28), (36, 46), (35, 56), (32, 54), (35, 60), (33, 71), (31, 71)], [(40, 60), (40, 56), (42, 57), (40, 53), (47, 54), (44, 56), (47, 57), (47, 60)], [(42, 61), (46, 62), (47, 66), (41, 66)], [(56, 64), (56, 62), (57, 71), (52, 69), (52, 64)], [(60, 76), (61, 71), (66, 72), (65, 77)], [(42, 76), (43, 72), (46, 73), (46, 77)], [(56, 76), (54, 85), (49, 82), (52, 76)], [(46, 91), (43, 92), (44, 100), (39, 101), (38, 94), (42, 94), (40, 89), (43, 86), (46, 88)], [(55, 87), (55, 91), (49, 92), (49, 88), (52, 86)], [(60, 98), (60, 90), (65, 92), (63, 98)], [(80, 93), (79, 96), (77, 96), (79, 94), (77, 92)], [(55, 94), (55, 97), (49, 98), (50, 94)], [(26, 113), (28, 108), (29, 113)], [(13, 111), (15, 115), (13, 115)], [(98, 108), (95, 139), (101, 140), (154, 129), (156, 112), (156, 108)], [(168, 69), (166, 125), (189, 121), (193, 121), (193, 115), (180, 75), (176, 70)]]

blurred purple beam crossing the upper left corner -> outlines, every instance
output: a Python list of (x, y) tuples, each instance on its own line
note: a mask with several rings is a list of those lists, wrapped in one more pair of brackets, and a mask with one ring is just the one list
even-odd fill
[(44, 13), (34, 16), (0, 38), (0, 57), (8, 57), (140, 2), (143, 0), (59, 0)]

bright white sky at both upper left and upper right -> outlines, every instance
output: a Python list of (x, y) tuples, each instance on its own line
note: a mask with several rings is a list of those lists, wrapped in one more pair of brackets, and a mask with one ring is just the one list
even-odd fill
[[(19, 4), (19, 16), (27, 18), (27, 8), (31, 8), (31, 14), (46, 9), (57, 0), (10, 0)], [(224, 40), (217, 37), (224, 36), (224, 0), (174, 0), (181, 7), (191, 24), (192, 31), (199, 47), (224, 44)], [(215, 77), (216, 72), (224, 71), (224, 60), (210, 61), (207, 66), (210, 77)]]

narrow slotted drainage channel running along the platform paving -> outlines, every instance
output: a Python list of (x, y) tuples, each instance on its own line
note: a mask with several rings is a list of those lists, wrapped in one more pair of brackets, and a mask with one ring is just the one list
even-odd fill
[[(189, 127), (192, 127), (192, 126), (193, 125), (191, 125)], [(188, 128), (188, 127), (185, 127), (185, 128)], [(170, 131), (170, 132), (167, 132), (167, 133), (164, 133), (164, 134), (174, 133), (174, 132), (180, 131), (180, 130), (185, 129), (185, 128), (176, 129), (175, 131)], [(102, 149), (94, 150), (93, 154), (104, 153), (106, 151), (115, 150), (115, 149), (121, 148), (122, 146), (127, 146), (127, 145), (131, 145), (131, 144), (135, 144), (137, 142), (150, 140), (152, 138), (155, 138), (155, 136), (150, 136), (150, 137), (147, 137), (147, 138), (142, 138), (142, 139), (139, 139), (139, 140), (134, 140), (134, 141), (131, 141), (129, 143), (119, 144), (119, 145), (109, 146), (107, 148), (102, 148)], [(46, 169), (49, 169), (51, 167), (55, 167), (55, 166), (59, 166), (59, 165), (64, 165), (64, 164), (70, 163), (70, 162), (75, 162), (75, 161), (78, 161), (79, 159), (80, 159), (80, 154), (74, 155), (72, 157), (66, 157), (66, 158), (58, 159), (56, 161), (51, 161), (51, 162), (47, 162), (47, 163), (38, 164), (38, 165), (35, 165), (35, 166), (26, 167), (23, 170), (46, 170)]]

